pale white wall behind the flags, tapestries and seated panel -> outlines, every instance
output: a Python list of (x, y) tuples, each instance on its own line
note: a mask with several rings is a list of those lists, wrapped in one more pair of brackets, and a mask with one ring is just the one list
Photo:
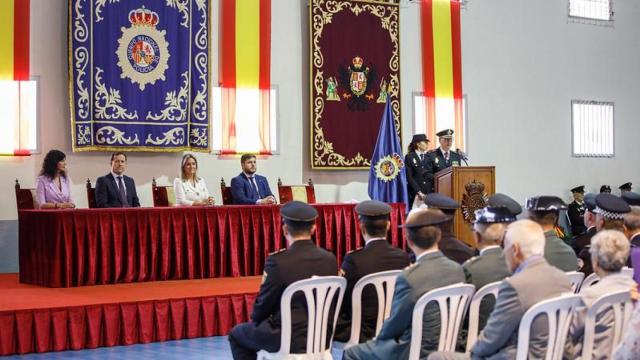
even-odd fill
[[(306, 0), (274, 0), (272, 82), (279, 89), (279, 155), (259, 159), (272, 187), (277, 177), (296, 183), (313, 178), (322, 202), (366, 198), (366, 171), (312, 171), (308, 128), (308, 10)], [(403, 138), (412, 134), (413, 91), (421, 90), (418, 6), (401, 8)], [(565, 0), (471, 0), (462, 12), (463, 87), (468, 95), (472, 164), (495, 165), (497, 189), (524, 201), (586, 184), (639, 182), (634, 135), (640, 134), (636, 100), (640, 84), (640, 2), (617, 0), (613, 28), (568, 23)], [(212, 1), (214, 14), (218, 1)], [(212, 44), (217, 44), (214, 15)], [(32, 0), (31, 71), (40, 76), (42, 149), (68, 155), (73, 195), (86, 206), (84, 181), (108, 171), (107, 153), (71, 153), (67, 87), (67, 0)], [(213, 68), (217, 54), (214, 47)], [(216, 71), (214, 70), (214, 75)], [(214, 83), (217, 82), (214, 76)], [(571, 157), (570, 101), (615, 102), (616, 156)], [(301, 140), (302, 139), (302, 140)], [(128, 174), (143, 205), (151, 205), (151, 178), (168, 183), (182, 154), (132, 153)], [(0, 220), (17, 218), (13, 180), (32, 187), (44, 154), (0, 158)], [(220, 177), (239, 172), (235, 157), (197, 155), (201, 174), (220, 201)], [(2, 235), (0, 234), (0, 238)]]

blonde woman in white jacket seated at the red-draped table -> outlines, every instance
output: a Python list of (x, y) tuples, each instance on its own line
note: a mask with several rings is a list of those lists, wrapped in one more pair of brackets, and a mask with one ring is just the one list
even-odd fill
[(198, 160), (191, 154), (182, 157), (180, 177), (173, 180), (173, 190), (178, 205), (205, 206), (215, 203), (204, 179), (198, 176)]

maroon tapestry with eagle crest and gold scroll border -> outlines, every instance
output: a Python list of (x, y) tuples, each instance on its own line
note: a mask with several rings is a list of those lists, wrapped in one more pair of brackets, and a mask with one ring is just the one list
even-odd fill
[(400, 134), (398, 0), (312, 0), (314, 169), (369, 169), (387, 98)]

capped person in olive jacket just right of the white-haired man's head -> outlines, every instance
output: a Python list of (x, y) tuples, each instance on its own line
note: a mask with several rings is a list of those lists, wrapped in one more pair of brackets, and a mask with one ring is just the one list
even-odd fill
[(544, 257), (549, 265), (562, 271), (578, 269), (578, 258), (571, 247), (556, 235), (555, 226), (558, 224), (560, 210), (567, 206), (557, 196), (536, 196), (527, 200), (526, 208), (531, 220), (538, 223), (544, 230), (546, 238)]

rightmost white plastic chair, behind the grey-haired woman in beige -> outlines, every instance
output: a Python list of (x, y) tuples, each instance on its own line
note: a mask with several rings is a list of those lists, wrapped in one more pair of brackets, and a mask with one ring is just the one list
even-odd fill
[(594, 301), (589, 310), (587, 310), (584, 322), (582, 359), (591, 359), (592, 357), (598, 316), (605, 311), (611, 311), (613, 313), (613, 324), (611, 324), (613, 333), (609, 337), (611, 342), (605, 344), (606, 346), (610, 346), (606, 357), (613, 358), (613, 351), (622, 341), (623, 333), (627, 327), (627, 323), (631, 319), (631, 312), (633, 311), (629, 291), (624, 290), (603, 295)]

